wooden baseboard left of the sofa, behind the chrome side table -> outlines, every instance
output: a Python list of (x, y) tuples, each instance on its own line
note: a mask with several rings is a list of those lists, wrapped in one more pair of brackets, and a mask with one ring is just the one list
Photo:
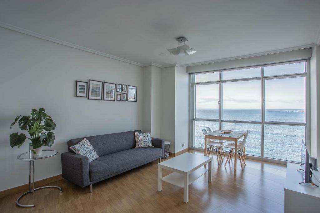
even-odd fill
[[(62, 180), (62, 179), (63, 179), (62, 174), (60, 174), (60, 175), (52, 176), (50, 178), (38, 180), (38, 181), (35, 181), (35, 188), (39, 187), (39, 186), (46, 185), (48, 183), (58, 181), (58, 180)], [(17, 186), (17, 187), (11, 188), (11, 189), (6, 189), (6, 190), (3, 190), (0, 192), (0, 198), (3, 198), (5, 196), (9, 196), (11, 194), (26, 192), (28, 190), (29, 190), (29, 184), (24, 184), (24, 185)]]

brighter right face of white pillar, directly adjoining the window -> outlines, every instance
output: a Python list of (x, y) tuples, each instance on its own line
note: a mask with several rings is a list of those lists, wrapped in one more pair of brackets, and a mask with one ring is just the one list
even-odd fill
[(174, 152), (179, 152), (189, 146), (189, 74), (186, 67), (176, 67), (175, 73)]

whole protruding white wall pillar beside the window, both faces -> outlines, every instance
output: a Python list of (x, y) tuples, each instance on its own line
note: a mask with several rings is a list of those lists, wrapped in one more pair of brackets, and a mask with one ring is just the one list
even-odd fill
[[(161, 138), (170, 141), (170, 152), (189, 145), (189, 74), (186, 67), (161, 69)], [(184, 146), (182, 146), (184, 144)]]

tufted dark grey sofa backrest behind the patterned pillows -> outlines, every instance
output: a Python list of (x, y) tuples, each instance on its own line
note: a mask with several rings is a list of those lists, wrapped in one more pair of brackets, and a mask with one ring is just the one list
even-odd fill
[[(104, 156), (126, 149), (131, 149), (136, 146), (134, 132), (141, 132), (141, 130), (112, 133), (105, 135), (96, 135), (86, 137), (90, 141), (92, 147), (96, 150), (99, 156)], [(70, 147), (79, 143), (83, 138), (71, 139), (68, 141), (68, 150), (73, 152)]]

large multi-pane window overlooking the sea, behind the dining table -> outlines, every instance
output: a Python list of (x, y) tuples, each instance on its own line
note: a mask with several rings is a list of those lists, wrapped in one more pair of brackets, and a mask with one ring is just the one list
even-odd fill
[(192, 147), (202, 129), (250, 130), (246, 154), (299, 162), (307, 133), (307, 61), (191, 75)]

